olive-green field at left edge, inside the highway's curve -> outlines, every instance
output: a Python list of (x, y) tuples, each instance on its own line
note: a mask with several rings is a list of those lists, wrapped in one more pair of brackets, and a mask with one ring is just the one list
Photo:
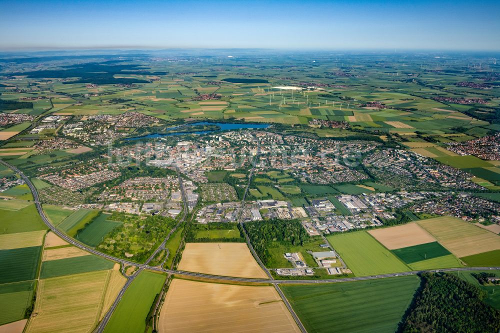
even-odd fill
[(46, 228), (34, 203), (19, 210), (0, 209), (0, 230), (3, 233), (45, 230)]

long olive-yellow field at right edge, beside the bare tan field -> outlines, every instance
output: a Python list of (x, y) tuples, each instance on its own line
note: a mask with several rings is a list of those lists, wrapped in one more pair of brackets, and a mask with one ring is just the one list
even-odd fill
[(416, 223), (457, 257), (500, 249), (500, 236), (456, 217), (442, 216)]

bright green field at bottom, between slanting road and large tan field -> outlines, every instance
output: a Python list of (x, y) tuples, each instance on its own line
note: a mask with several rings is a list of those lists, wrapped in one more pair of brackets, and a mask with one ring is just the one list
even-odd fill
[(104, 332), (143, 332), (145, 319), (165, 275), (141, 271), (125, 291)]

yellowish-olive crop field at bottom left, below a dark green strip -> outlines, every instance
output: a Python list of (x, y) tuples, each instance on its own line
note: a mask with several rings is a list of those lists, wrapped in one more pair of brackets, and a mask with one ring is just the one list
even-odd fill
[(26, 332), (89, 332), (97, 323), (110, 271), (41, 279)]

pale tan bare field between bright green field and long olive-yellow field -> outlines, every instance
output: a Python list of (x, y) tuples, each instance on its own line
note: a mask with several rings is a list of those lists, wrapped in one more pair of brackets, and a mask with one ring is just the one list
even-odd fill
[(389, 228), (369, 230), (368, 233), (388, 249), (435, 241), (434, 237), (416, 223), (406, 223)]

